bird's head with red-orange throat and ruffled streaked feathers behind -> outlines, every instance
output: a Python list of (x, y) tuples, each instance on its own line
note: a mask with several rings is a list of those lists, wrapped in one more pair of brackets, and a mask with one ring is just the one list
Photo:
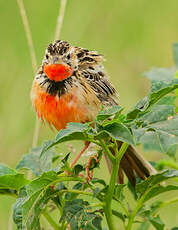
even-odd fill
[(103, 56), (95, 51), (73, 47), (68, 42), (57, 40), (46, 48), (43, 59), (43, 72), (50, 80), (63, 81), (74, 71), (97, 66)]

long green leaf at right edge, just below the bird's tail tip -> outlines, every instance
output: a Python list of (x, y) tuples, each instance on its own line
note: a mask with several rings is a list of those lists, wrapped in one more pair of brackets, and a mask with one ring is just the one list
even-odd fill
[(143, 194), (149, 188), (174, 177), (178, 177), (178, 170), (167, 170), (165, 172), (152, 175), (148, 179), (136, 185), (136, 192)]

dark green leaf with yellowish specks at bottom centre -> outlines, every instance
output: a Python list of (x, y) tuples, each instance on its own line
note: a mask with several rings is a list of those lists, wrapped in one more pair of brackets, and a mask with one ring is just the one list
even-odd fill
[(101, 217), (82, 199), (66, 201), (60, 221), (66, 220), (71, 230), (102, 230)]

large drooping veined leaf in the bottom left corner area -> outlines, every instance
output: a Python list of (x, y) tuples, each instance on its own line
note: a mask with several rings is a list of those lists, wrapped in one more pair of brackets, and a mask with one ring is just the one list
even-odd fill
[[(39, 216), (48, 200), (57, 192), (50, 187), (57, 179), (58, 175), (51, 171), (43, 173), (26, 185), (14, 207), (14, 219), (17, 226), (25, 226), (29, 230), (40, 229)], [(20, 227), (18, 229), (21, 230)]]

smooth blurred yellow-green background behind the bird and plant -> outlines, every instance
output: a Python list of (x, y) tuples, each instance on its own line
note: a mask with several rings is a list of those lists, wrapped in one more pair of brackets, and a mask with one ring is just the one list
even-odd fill
[[(40, 65), (45, 47), (53, 41), (59, 0), (24, 0), (24, 4)], [(119, 92), (120, 103), (129, 109), (148, 90), (149, 82), (142, 72), (152, 66), (173, 65), (177, 11), (177, 0), (68, 0), (61, 39), (105, 55), (106, 70)], [(0, 22), (0, 158), (15, 167), (32, 144), (35, 114), (29, 94), (34, 76), (15, 0), (0, 0)], [(39, 143), (54, 136), (43, 126)], [(145, 156), (154, 160), (161, 157)], [(0, 197), (0, 230), (8, 229), (12, 202), (13, 198)], [(161, 216), (170, 228), (178, 226), (176, 205)]]

